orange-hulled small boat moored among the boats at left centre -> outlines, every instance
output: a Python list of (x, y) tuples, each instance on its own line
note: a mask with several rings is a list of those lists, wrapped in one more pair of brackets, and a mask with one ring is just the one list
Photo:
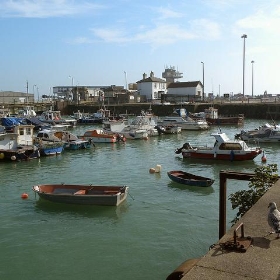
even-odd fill
[(119, 133), (108, 133), (103, 129), (87, 130), (80, 138), (83, 140), (91, 140), (93, 143), (116, 143), (126, 141), (123, 135)]

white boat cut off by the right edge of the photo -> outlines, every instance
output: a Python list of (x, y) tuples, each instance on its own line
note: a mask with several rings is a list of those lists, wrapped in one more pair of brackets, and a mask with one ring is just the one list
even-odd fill
[(266, 123), (254, 130), (241, 130), (241, 133), (237, 134), (236, 138), (259, 143), (277, 143), (280, 142), (280, 126)]

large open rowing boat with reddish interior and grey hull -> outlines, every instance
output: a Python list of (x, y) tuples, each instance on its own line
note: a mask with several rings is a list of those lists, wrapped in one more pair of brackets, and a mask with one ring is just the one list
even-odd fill
[(127, 186), (93, 186), (93, 185), (37, 185), (33, 191), (40, 198), (52, 202), (118, 206), (125, 201)]

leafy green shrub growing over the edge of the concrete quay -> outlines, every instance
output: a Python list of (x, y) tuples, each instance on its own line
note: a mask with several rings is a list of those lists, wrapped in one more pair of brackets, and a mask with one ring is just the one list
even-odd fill
[(232, 209), (238, 208), (236, 217), (231, 221), (235, 224), (278, 180), (277, 164), (259, 166), (248, 184), (249, 190), (237, 191), (229, 195)]

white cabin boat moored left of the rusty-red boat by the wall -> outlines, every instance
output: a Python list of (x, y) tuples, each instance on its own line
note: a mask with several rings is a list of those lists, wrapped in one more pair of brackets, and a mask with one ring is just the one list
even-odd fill
[(168, 126), (177, 125), (182, 130), (206, 130), (209, 129), (209, 125), (205, 119), (193, 120), (187, 116), (185, 109), (178, 109), (172, 116), (167, 116), (157, 121), (158, 125)]

